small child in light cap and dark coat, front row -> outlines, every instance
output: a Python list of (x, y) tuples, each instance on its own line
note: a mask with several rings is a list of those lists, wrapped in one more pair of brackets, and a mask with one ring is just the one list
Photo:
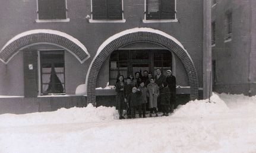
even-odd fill
[(131, 106), (131, 117), (135, 119), (135, 110), (138, 109), (138, 113), (141, 117), (141, 105), (140, 105), (140, 99), (141, 99), (141, 91), (137, 90), (136, 87), (132, 88), (132, 93), (128, 95), (127, 101), (129, 103), (129, 106)]

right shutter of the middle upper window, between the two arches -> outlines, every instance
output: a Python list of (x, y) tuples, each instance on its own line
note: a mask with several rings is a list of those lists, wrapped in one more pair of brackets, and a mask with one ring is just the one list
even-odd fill
[(122, 0), (108, 0), (108, 19), (122, 20)]

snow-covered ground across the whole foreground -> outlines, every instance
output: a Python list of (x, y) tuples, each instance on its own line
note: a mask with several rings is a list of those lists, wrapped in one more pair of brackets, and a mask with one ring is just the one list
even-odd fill
[(0, 152), (256, 152), (256, 97), (214, 94), (168, 117), (118, 120), (91, 105), (0, 115)]

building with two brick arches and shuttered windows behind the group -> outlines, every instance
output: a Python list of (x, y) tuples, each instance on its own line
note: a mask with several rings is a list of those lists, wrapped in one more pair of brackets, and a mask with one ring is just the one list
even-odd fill
[(111, 106), (115, 90), (96, 88), (145, 69), (172, 69), (184, 87), (177, 93), (187, 100), (211, 91), (203, 83), (209, 79), (203, 65), (211, 61), (204, 55), (211, 41), (204, 34), (208, 2), (12, 0), (0, 6), (0, 95), (6, 96), (0, 113)]

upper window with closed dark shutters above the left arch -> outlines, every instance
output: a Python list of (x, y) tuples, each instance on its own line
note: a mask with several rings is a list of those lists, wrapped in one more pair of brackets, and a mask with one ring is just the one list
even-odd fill
[(37, 0), (39, 20), (67, 19), (65, 0)]

